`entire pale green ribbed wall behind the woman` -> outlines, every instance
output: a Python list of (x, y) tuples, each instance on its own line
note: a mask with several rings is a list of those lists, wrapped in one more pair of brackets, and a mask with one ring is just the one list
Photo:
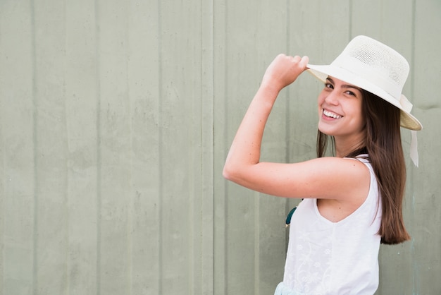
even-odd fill
[[(441, 294), (440, 30), (440, 0), (0, 0), (0, 295), (273, 294), (297, 201), (223, 161), (275, 55), (355, 35), (408, 59), (424, 126), (377, 294)], [(283, 90), (264, 159), (314, 157), (320, 88)]]

